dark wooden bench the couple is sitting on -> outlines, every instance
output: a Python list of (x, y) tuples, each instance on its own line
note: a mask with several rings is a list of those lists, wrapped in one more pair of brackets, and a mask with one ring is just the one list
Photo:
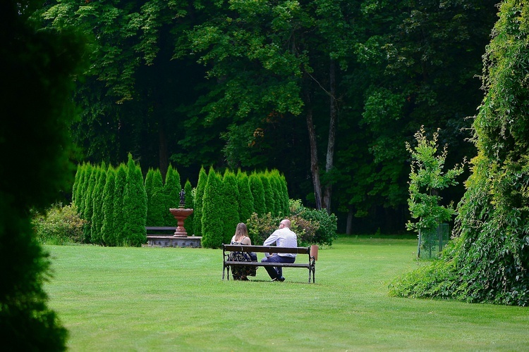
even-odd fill
[[(230, 252), (256, 252), (256, 253), (295, 253), (295, 254), (307, 254), (308, 263), (261, 263), (257, 262), (238, 262), (229, 260)], [(283, 268), (307, 268), (309, 270), (309, 284), (310, 277), (312, 276), (312, 283), (315, 282), (316, 272), (316, 255), (311, 255), (309, 247), (276, 247), (276, 246), (243, 246), (238, 244), (223, 244), (222, 245), (222, 256), (224, 263), (222, 264), (222, 279), (224, 280), (224, 272), (227, 273), (228, 279), (230, 279), (230, 267), (231, 266), (272, 266), (272, 267), (283, 267)], [(300, 256), (296, 256), (296, 260), (299, 260)], [(258, 259), (257, 259), (258, 260)]]

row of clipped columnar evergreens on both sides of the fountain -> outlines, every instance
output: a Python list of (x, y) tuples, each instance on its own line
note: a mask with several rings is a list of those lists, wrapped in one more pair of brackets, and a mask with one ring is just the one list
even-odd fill
[[(129, 155), (127, 165), (78, 165), (73, 184), (73, 204), (86, 220), (83, 243), (105, 246), (140, 246), (147, 240), (147, 226), (176, 226), (169, 208), (178, 208), (181, 180), (171, 165), (165, 180), (159, 170), (147, 171)], [(184, 206), (195, 211), (184, 226), (202, 236), (202, 246), (218, 248), (228, 243), (238, 222), (253, 213), (288, 215), (286, 180), (277, 170), (246, 172), (201, 168), (197, 187), (184, 186)]]

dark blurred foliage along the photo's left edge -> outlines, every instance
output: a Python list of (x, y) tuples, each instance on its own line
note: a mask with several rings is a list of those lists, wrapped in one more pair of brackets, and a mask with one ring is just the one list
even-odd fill
[(68, 125), (83, 42), (28, 20), (39, 1), (0, 2), (0, 338), (6, 351), (65, 351), (67, 330), (47, 302), (50, 258), (30, 209), (70, 191), (75, 166)]

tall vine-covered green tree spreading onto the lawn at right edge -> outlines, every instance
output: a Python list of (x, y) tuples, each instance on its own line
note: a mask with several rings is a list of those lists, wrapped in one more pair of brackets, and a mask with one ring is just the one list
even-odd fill
[(529, 0), (506, 0), (484, 56), (478, 156), (442, 259), (392, 285), (401, 296), (529, 304)]

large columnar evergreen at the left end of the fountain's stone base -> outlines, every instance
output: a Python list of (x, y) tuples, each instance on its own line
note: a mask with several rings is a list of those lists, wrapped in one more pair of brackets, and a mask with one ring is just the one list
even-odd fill
[(131, 154), (128, 154), (127, 168), (127, 182), (123, 194), (126, 244), (141, 246), (147, 241), (147, 194), (143, 186), (142, 170), (140, 165), (136, 165)]

